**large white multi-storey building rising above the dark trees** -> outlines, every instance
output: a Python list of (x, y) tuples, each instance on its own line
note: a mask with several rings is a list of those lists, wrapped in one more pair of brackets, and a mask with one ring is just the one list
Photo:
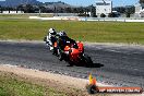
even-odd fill
[(101, 13), (108, 15), (112, 12), (111, 0), (96, 0), (96, 15), (100, 16)]

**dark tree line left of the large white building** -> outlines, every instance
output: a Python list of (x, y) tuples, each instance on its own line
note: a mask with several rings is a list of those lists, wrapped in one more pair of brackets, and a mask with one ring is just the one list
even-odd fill
[(94, 11), (94, 7), (57, 7), (46, 8), (44, 5), (20, 4), (19, 7), (0, 7), (0, 11), (23, 11), (24, 13), (86, 13)]

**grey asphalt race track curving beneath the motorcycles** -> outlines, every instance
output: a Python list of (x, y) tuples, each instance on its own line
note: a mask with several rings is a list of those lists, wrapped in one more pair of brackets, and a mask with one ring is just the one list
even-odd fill
[(144, 87), (144, 47), (85, 45), (94, 68), (68, 67), (43, 43), (0, 41), (0, 64), (38, 69), (87, 79), (93, 73), (98, 82), (118, 86)]

